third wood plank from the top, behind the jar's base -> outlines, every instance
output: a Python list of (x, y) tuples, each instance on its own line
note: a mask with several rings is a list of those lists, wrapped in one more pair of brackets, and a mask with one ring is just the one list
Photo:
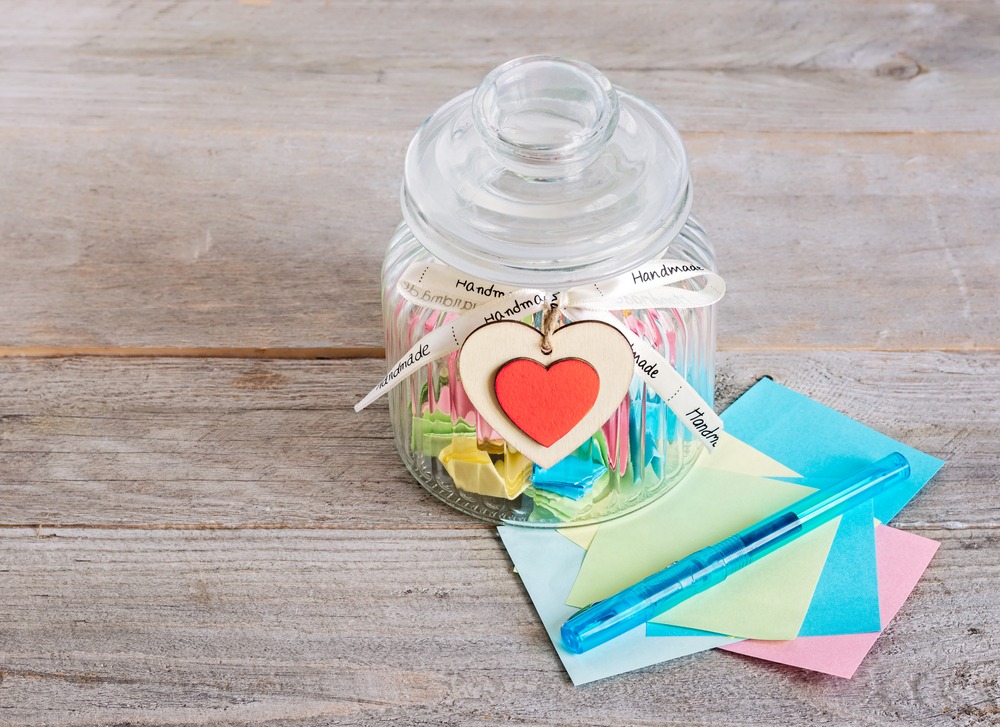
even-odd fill
[[(378, 403), (384, 363), (0, 361), (0, 523), (477, 527), (412, 482)], [(998, 527), (1000, 360), (723, 352), (720, 403), (763, 375), (948, 460), (900, 515)]]

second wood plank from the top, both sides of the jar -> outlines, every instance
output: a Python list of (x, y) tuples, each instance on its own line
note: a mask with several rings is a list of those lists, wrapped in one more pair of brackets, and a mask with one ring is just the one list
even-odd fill
[[(0, 350), (381, 345), (408, 133), (0, 133)], [(1000, 339), (1000, 135), (687, 141), (723, 346)]]

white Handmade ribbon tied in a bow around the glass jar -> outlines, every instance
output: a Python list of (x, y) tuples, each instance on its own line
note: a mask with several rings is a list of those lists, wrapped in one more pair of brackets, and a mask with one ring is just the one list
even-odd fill
[[(701, 278), (703, 287), (690, 290), (677, 285), (694, 278)], [(682, 260), (656, 260), (600, 283), (548, 293), (537, 288), (497, 285), (439, 263), (414, 263), (403, 273), (397, 290), (416, 305), (465, 315), (413, 344), (385, 378), (355, 404), (355, 411), (391, 391), (418, 368), (457, 351), (480, 326), (524, 318), (549, 306), (562, 309), (571, 320), (600, 321), (621, 331), (632, 346), (636, 374), (710, 452), (719, 441), (722, 420), (718, 415), (659, 351), (610, 313), (636, 308), (712, 305), (725, 294), (726, 285), (711, 270)]]

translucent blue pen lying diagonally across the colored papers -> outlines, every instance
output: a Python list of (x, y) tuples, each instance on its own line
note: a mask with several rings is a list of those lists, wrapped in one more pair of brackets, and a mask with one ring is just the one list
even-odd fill
[(588, 606), (563, 624), (563, 648), (571, 654), (582, 654), (610, 641), (909, 476), (910, 463), (906, 457), (899, 452), (883, 457), (836, 485), (817, 490), (735, 535)]

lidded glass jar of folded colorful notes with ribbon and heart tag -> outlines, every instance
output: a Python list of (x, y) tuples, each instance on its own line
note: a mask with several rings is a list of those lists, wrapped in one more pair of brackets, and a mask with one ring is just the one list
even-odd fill
[(670, 490), (722, 431), (725, 286), (677, 130), (595, 68), (506, 63), (406, 154), (383, 267), (397, 448), (491, 522), (590, 524)]

